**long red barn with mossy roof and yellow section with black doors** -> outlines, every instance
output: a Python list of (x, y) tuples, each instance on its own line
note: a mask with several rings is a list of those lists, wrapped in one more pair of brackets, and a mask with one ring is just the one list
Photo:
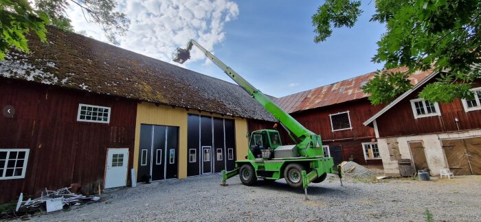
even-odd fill
[(54, 27), (47, 38), (0, 61), (0, 203), (125, 186), (130, 169), (137, 182), (232, 169), (247, 119), (274, 120), (240, 86)]

